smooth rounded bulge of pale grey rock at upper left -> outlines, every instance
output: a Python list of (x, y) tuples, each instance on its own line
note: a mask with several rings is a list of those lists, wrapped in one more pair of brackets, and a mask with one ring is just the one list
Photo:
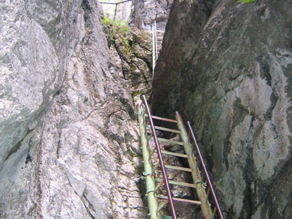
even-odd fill
[[(0, 9), (0, 168), (13, 146), (37, 125), (36, 118), (59, 86), (56, 49), (42, 24), (30, 18), (32, 13), (25, 7), (24, 2), (6, 1)], [(37, 10), (38, 6), (32, 7)], [(55, 15), (56, 8), (48, 10)]]

